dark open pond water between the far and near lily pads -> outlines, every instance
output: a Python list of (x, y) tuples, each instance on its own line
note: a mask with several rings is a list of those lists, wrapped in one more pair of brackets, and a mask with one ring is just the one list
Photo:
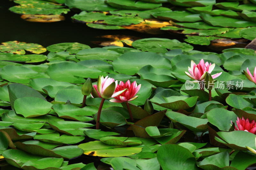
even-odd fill
[[(102, 47), (92, 41), (102, 41), (97, 38), (102, 35), (130, 35), (140, 38), (168, 38), (183, 41), (183, 35), (163, 33), (151, 35), (132, 30), (101, 30), (94, 29), (82, 23), (73, 23), (71, 16), (76, 12), (71, 11), (65, 15), (66, 20), (53, 23), (28, 22), (20, 18), (20, 14), (13, 13), (8, 9), (18, 5), (13, 1), (0, 0), (0, 43), (6, 41), (23, 41), (37, 43), (44, 47), (62, 42), (79, 42), (89, 45), (91, 48)], [(79, 13), (79, 11), (78, 11)], [(203, 46), (195, 46), (195, 50), (212, 51)], [(212, 51), (214, 52), (214, 51)]]

